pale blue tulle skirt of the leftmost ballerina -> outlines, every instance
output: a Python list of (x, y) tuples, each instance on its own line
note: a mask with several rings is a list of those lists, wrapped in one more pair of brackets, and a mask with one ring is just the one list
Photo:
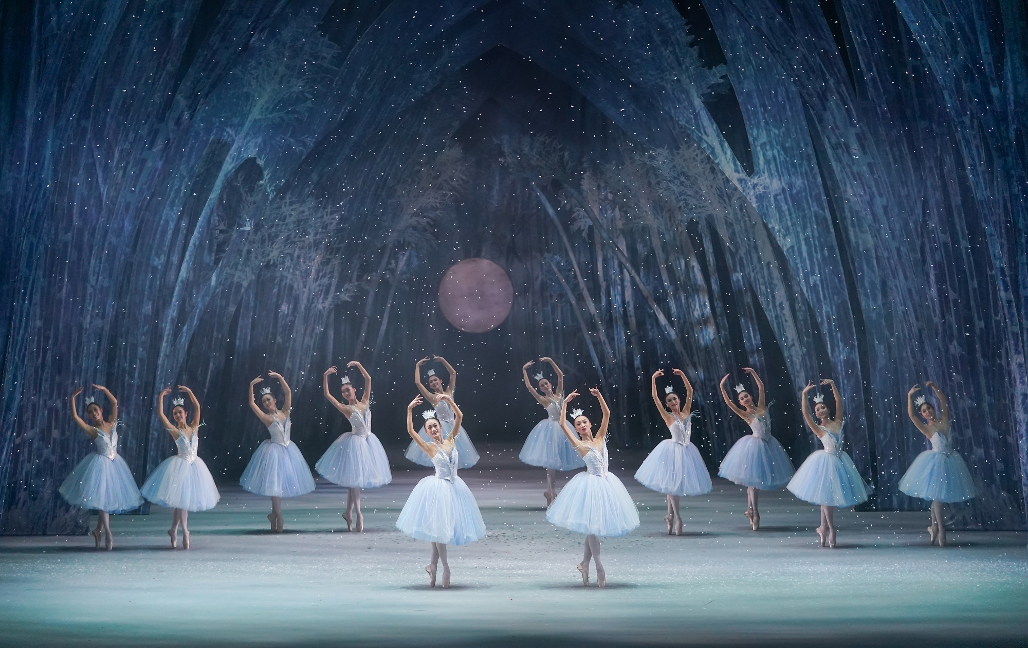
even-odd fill
[(108, 513), (131, 511), (143, 503), (136, 479), (119, 455), (108, 459), (89, 453), (72, 469), (58, 492), (69, 504)]

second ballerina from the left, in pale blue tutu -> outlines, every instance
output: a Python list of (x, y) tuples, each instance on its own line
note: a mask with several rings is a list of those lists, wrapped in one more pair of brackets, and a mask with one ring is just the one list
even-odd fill
[(187, 423), (185, 400), (172, 400), (172, 420), (164, 416), (164, 397), (172, 393), (171, 387), (160, 392), (157, 416), (164, 425), (178, 454), (160, 462), (142, 488), (143, 497), (154, 504), (160, 504), (172, 509), (172, 528), (168, 535), (172, 539), (172, 548), (178, 548), (179, 525), (182, 525), (182, 546), (189, 548), (189, 511), (206, 511), (214, 508), (221, 494), (214, 484), (211, 471), (207, 469), (204, 460), (196, 456), (199, 443), (199, 401), (188, 387), (179, 385), (179, 391), (189, 396), (192, 404), (192, 422)]

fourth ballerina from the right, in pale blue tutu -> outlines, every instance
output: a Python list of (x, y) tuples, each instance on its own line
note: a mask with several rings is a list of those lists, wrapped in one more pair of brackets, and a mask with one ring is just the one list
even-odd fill
[(710, 473), (703, 464), (700, 452), (689, 441), (693, 434), (693, 386), (681, 369), (671, 369), (671, 372), (682, 379), (686, 390), (686, 405), (682, 407), (682, 401), (671, 386), (664, 388), (664, 402), (660, 401), (657, 376), (664, 375), (664, 370), (655, 371), (650, 379), (653, 402), (656, 403), (664, 425), (670, 430), (671, 438), (664, 439), (653, 448), (635, 472), (635, 480), (651, 491), (667, 495), (667, 515), (664, 516), (667, 533), (671, 533), (673, 526), (674, 535), (681, 536), (678, 498), (683, 495), (703, 495), (709, 493), (712, 487)]

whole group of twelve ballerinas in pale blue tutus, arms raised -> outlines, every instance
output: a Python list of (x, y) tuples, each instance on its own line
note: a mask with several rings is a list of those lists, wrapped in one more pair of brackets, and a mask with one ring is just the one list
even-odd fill
[[(436, 585), (439, 563), (442, 563), (442, 586), (450, 583), (447, 563), (448, 545), (463, 545), (485, 535), (478, 503), (468, 485), (457, 476), (458, 468), (469, 468), (479, 456), (464, 429), (464, 413), (454, 400), (456, 371), (442, 357), (431, 358), (442, 365), (448, 381), (429, 369), (427, 381), (421, 371), (429, 357), (419, 360), (414, 369), (414, 382), (420, 394), (407, 405), (407, 433), (411, 437), (406, 458), (430, 466), (435, 474), (425, 477), (414, 487), (404, 504), (396, 526), (401, 532), (430, 542), (430, 564), (425, 568), (431, 586)], [(589, 584), (590, 567), (595, 565), (596, 582), (607, 584), (605, 571), (600, 562), (601, 537), (624, 536), (639, 526), (638, 511), (621, 480), (609, 470), (607, 432), (611, 410), (598, 389), (589, 389), (596, 398), (601, 420), (595, 431), (592, 421), (583, 409), (576, 408), (568, 416), (568, 404), (580, 397), (577, 390), (564, 394), (563, 373), (551, 358), (541, 358), (556, 379), (556, 384), (543, 371), (535, 374), (535, 385), (528, 376), (530, 361), (522, 366), (525, 387), (548, 417), (528, 434), (519, 458), (522, 462), (546, 469), (546, 498), (548, 521), (585, 535), (584, 556), (577, 569), (584, 585)], [(363, 377), (363, 394), (348, 375), (341, 374), (338, 393), (342, 400), (332, 395), (329, 377), (338, 374), (335, 366), (323, 375), (325, 398), (350, 421), (352, 430), (336, 438), (318, 460), (315, 469), (329, 481), (347, 489), (346, 508), (342, 513), (348, 531), (363, 531), (364, 515), (361, 511), (361, 490), (374, 489), (392, 480), (389, 460), (378, 438), (371, 432), (371, 376), (360, 362), (350, 362), (347, 368), (357, 369)], [(852, 459), (842, 449), (843, 427), (846, 419), (843, 399), (831, 380), (820, 385), (831, 390), (834, 411), (825, 403), (824, 394), (811, 394), (813, 383), (803, 389), (803, 418), (823, 446), (812, 453), (799, 470), (794, 470), (788, 455), (771, 434), (768, 403), (764, 385), (751, 368), (743, 369), (757, 388), (757, 400), (742, 384), (734, 387), (734, 397), (729, 395), (726, 374), (720, 384), (722, 397), (728, 407), (749, 426), (750, 433), (742, 436), (731, 447), (721, 463), (719, 476), (746, 487), (746, 511), (752, 531), (760, 529), (758, 507), (760, 491), (786, 488), (796, 497), (820, 506), (820, 524), (817, 536), (820, 546), (836, 546), (836, 528), (833, 518), (838, 507), (850, 507), (868, 499), (872, 487), (864, 481)], [(667, 498), (665, 521), (668, 534), (680, 535), (683, 520), (680, 510), (684, 496), (698, 496), (712, 489), (710, 474), (691, 441), (693, 387), (680, 369), (671, 370), (681, 380), (681, 394), (674, 385), (664, 387), (661, 394), (658, 370), (651, 376), (651, 391), (670, 438), (661, 441), (635, 472), (635, 479), (646, 488), (662, 493)], [(269, 387), (254, 388), (264, 382), (257, 376), (250, 383), (249, 403), (254, 413), (268, 430), (269, 439), (260, 443), (247, 465), (240, 483), (251, 493), (269, 497), (270, 529), (282, 533), (284, 519), (282, 499), (296, 497), (315, 490), (310, 468), (290, 440), (292, 392), (286, 380), (273, 371), (267, 373), (282, 389), (282, 407)], [(76, 424), (89, 435), (96, 452), (79, 462), (60, 488), (61, 495), (71, 504), (99, 512), (97, 527), (91, 532), (97, 548), (103, 542), (107, 549), (114, 546), (110, 514), (131, 511), (145, 500), (172, 509), (172, 527), (168, 531), (172, 548), (178, 548), (178, 532), (182, 531), (182, 546), (189, 548), (188, 514), (213, 508), (220, 499), (214, 479), (204, 461), (197, 457), (200, 423), (200, 403), (192, 390), (178, 386), (184, 396), (172, 400), (171, 420), (166, 416), (166, 399), (171, 388), (160, 392), (158, 418), (175, 441), (176, 454), (169, 457), (147, 477), (142, 489), (128, 466), (117, 454), (118, 404), (114, 395), (101, 385), (94, 385), (107, 399), (109, 419), (94, 398), (85, 399), (88, 423), (78, 415), (79, 388), (72, 394), (71, 410)], [(929, 543), (946, 544), (942, 505), (962, 502), (976, 495), (974, 480), (963, 459), (953, 448), (950, 440), (950, 411), (946, 395), (933, 383), (926, 383), (939, 402), (939, 409), (928, 402), (915, 385), (908, 393), (908, 413), (919, 432), (924, 434), (931, 448), (918, 455), (900, 480), (900, 490), (907, 495), (931, 502), (931, 523), (928, 527)], [(186, 403), (185, 397), (189, 402)], [(432, 409), (420, 412), (424, 425), (415, 431), (415, 409), (423, 404)], [(813, 405), (811, 411), (811, 404)], [(577, 473), (559, 492), (554, 477), (559, 471), (585, 468)]]

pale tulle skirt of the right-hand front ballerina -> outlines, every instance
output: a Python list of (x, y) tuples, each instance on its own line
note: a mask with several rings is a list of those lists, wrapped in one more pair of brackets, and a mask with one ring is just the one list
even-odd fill
[(553, 500), (546, 519), (594, 536), (623, 536), (639, 526), (635, 502), (615, 475), (580, 472)]

